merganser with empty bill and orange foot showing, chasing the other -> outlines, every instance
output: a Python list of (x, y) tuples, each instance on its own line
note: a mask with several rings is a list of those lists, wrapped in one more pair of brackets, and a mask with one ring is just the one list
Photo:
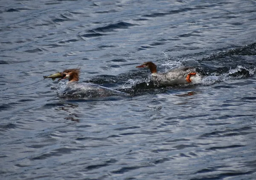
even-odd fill
[(167, 86), (198, 82), (201, 79), (201, 74), (193, 67), (175, 68), (166, 73), (157, 73), (157, 66), (153, 62), (144, 62), (136, 68), (149, 68), (152, 80)]

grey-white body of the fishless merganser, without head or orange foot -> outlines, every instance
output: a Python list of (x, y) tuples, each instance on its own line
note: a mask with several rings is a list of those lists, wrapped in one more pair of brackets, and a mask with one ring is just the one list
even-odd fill
[[(195, 68), (193, 67), (182, 67), (175, 68), (166, 73), (152, 73), (152, 80), (157, 84), (162, 84), (166, 86), (177, 85), (177, 84), (189, 84), (186, 81), (186, 77), (189, 73), (196, 73)], [(190, 76), (190, 81), (198, 82), (201, 80), (201, 75), (196, 73), (195, 75)]]

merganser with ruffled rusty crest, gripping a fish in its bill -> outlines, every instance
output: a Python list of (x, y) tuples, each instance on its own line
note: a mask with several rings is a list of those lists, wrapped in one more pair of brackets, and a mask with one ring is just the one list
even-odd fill
[(103, 87), (98, 84), (92, 83), (78, 83), (79, 81), (80, 68), (67, 69), (63, 72), (55, 73), (51, 76), (44, 76), (44, 79), (68, 79), (67, 84), (61, 86), (58, 90), (58, 94), (61, 96), (72, 96), (72, 97), (96, 97), (96, 96), (129, 96), (128, 93), (123, 93), (118, 90), (114, 90), (108, 87)]

